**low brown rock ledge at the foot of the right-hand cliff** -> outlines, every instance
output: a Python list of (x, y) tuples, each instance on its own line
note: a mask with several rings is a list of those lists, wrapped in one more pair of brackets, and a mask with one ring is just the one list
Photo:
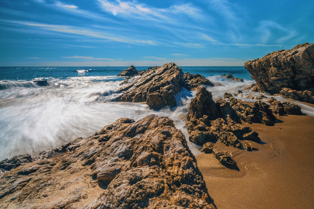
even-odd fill
[(299, 100), (301, 102), (308, 102), (314, 104), (314, 91), (297, 91), (290, 88), (282, 88), (280, 93), (290, 99)]

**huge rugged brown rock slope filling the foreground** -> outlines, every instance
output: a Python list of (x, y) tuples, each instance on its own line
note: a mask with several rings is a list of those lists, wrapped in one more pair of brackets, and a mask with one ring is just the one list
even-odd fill
[(215, 208), (166, 117), (121, 118), (34, 159), (0, 178), (3, 208)]

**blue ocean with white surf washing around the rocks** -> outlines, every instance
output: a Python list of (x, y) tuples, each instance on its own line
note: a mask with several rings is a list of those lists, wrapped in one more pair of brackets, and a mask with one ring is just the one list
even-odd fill
[[(148, 69), (148, 66), (135, 67), (138, 71)], [(173, 119), (176, 128), (188, 138), (186, 114), (196, 91), (182, 89), (177, 95), (178, 107), (159, 111), (149, 110), (141, 103), (112, 102), (124, 79), (116, 75), (126, 68), (0, 67), (0, 161), (18, 154), (36, 156), (75, 138), (91, 136), (118, 118), (138, 120), (149, 114)], [(207, 87), (214, 100), (223, 98), (225, 92), (234, 94), (238, 90), (243, 91), (242, 100), (253, 101), (253, 96), (260, 94), (250, 92), (254, 80), (241, 66), (181, 68), (184, 73), (198, 73), (214, 83), (215, 86)], [(229, 73), (243, 78), (244, 82), (221, 77)], [(48, 81), (49, 85), (33, 82), (40, 80)], [(301, 107), (307, 114), (314, 112), (306, 105)], [(199, 146), (189, 141), (188, 145), (194, 154), (199, 152)]]

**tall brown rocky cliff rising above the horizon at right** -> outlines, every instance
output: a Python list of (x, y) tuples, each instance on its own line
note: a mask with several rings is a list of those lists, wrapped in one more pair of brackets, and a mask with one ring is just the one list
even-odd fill
[[(314, 104), (314, 44), (299, 44), (244, 64), (255, 88)], [(289, 88), (290, 90), (284, 89)]]

